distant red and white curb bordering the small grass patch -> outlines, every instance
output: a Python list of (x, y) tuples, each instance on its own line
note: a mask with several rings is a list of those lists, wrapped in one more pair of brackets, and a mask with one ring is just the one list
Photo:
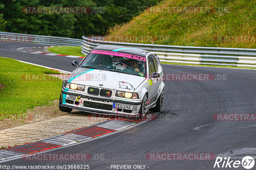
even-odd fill
[(33, 53), (33, 54), (43, 54), (43, 55), (52, 55), (52, 56), (61, 56), (61, 57), (70, 57), (70, 58), (84, 58), (76, 55), (63, 55), (63, 54), (51, 53), (47, 51), (47, 48), (49, 47), (54, 47), (54, 46), (20, 47), (20, 48), (17, 48), (17, 50), (22, 52), (27, 52), (27, 53)]

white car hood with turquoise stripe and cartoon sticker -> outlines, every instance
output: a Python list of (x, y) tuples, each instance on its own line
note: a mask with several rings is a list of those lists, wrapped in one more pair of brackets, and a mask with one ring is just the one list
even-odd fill
[(88, 68), (77, 68), (68, 78), (71, 83), (128, 92), (134, 92), (146, 79), (136, 75)]

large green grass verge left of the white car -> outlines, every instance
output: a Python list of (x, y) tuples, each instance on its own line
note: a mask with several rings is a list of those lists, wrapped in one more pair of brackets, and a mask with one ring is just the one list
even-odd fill
[[(4, 63), (0, 67), (0, 120), (26, 116), (28, 109), (36, 106), (49, 106), (59, 99), (62, 81), (24, 81), (24, 76), (34, 77), (36, 74), (60, 74), (57, 71), (21, 63), (19, 61), (0, 57)], [(35, 74), (35, 75), (33, 75)], [(46, 75), (47, 76), (47, 75)], [(49, 76), (47, 76), (49, 77)]]

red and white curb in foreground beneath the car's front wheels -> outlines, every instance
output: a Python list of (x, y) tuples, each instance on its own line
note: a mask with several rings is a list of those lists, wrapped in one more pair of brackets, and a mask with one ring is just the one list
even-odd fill
[(0, 162), (6, 159), (12, 159), (19, 156), (43, 152), (50, 149), (75, 144), (91, 138), (96, 138), (121, 129), (127, 128), (144, 120), (153, 120), (157, 114), (147, 114), (147, 118), (142, 120), (128, 120), (124, 118), (112, 118), (104, 122), (93, 124), (91, 126), (69, 131), (57, 136), (45, 138), (25, 145), (14, 146), (6, 149), (0, 149)]

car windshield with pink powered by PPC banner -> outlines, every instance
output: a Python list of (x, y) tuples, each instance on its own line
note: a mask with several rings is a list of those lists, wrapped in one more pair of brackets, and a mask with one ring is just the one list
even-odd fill
[(95, 69), (98, 68), (145, 77), (145, 61), (146, 58), (142, 56), (103, 50), (93, 50), (86, 56), (80, 67), (94, 67)]

